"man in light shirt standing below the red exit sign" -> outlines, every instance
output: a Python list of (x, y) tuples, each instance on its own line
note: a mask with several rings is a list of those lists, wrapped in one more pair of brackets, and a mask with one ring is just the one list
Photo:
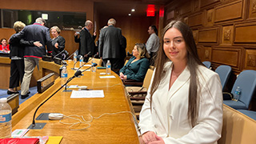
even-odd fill
[(158, 29), (156, 26), (150, 26), (147, 30), (150, 38), (146, 41), (146, 50), (150, 54), (150, 65), (154, 66), (154, 58), (159, 48)]

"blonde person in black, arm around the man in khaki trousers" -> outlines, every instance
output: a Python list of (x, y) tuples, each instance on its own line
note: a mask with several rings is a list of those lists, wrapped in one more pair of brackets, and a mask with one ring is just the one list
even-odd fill
[[(16, 34), (20, 32), (26, 25), (23, 22), (14, 22), (14, 30)], [(11, 37), (14, 37), (13, 34)], [(10, 41), (10, 85), (7, 94), (18, 94), (14, 88), (22, 83), (24, 75), (24, 47), (25, 46), (42, 46), (40, 42), (24, 41), (23, 39), (15, 39)]]

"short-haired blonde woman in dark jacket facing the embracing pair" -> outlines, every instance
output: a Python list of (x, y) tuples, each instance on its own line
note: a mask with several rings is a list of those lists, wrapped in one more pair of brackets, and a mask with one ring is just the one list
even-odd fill
[[(65, 38), (60, 36), (59, 34), (61, 33), (61, 30), (58, 28), (58, 26), (53, 26), (50, 28), (50, 33), (53, 35), (53, 41), (51, 42), (53, 45), (53, 52), (52, 56), (54, 57), (55, 55), (58, 54), (57, 58), (65, 59), (66, 55), (62, 50), (65, 48)], [(62, 52), (62, 54), (59, 54)]]

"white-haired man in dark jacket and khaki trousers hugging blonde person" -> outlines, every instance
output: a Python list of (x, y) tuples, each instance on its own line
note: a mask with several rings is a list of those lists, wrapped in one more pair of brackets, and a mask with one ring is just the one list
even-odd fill
[[(34, 71), (34, 67), (38, 66), (38, 59), (46, 55), (46, 46), (48, 53), (51, 53), (52, 45), (50, 38), (50, 30), (45, 27), (46, 21), (43, 18), (37, 18), (33, 25), (25, 26), (24, 29), (16, 34), (13, 38), (25, 41), (38, 41), (42, 46), (26, 46), (24, 51), (25, 74), (22, 80), (22, 98), (29, 96), (30, 80)], [(10, 41), (12, 38), (10, 38)]]

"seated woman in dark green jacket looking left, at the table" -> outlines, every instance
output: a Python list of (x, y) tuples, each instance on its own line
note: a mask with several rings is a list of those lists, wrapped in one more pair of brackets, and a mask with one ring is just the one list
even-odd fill
[(150, 66), (148, 60), (149, 54), (146, 51), (146, 47), (142, 43), (136, 43), (133, 50), (133, 57), (123, 66), (119, 71), (119, 77), (122, 80), (132, 79), (138, 82), (142, 82), (145, 78), (146, 71)]

